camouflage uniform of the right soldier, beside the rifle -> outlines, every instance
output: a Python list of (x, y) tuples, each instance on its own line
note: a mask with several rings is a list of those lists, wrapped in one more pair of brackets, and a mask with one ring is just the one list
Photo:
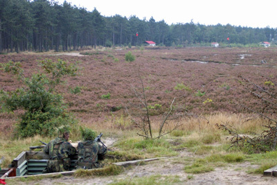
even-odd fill
[(107, 148), (93, 140), (78, 143), (78, 165), (77, 168), (98, 168), (98, 159), (104, 159)]

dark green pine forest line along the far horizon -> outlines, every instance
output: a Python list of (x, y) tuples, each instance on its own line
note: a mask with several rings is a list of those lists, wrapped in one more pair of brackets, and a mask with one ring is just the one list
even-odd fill
[[(0, 0), (0, 53), (71, 51), (85, 46), (160, 46), (258, 44), (276, 39), (276, 28), (203, 25), (139, 19), (135, 15), (104, 17), (94, 8), (62, 5), (54, 0)], [(229, 38), (229, 40), (227, 40)]]

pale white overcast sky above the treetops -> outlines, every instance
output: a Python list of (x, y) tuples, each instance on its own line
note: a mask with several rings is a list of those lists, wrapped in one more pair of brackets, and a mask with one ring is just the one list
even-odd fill
[[(64, 0), (56, 0), (63, 3)], [(66, 0), (71, 5), (94, 8), (102, 16), (121, 15), (129, 18), (166, 21), (167, 24), (188, 23), (231, 24), (252, 28), (277, 28), (277, 0)]]

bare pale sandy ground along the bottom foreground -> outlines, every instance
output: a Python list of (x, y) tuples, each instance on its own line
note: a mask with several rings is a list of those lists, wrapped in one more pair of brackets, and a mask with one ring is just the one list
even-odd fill
[[(111, 147), (115, 142), (114, 139), (105, 139), (104, 143)], [(179, 151), (177, 157), (169, 157), (159, 159), (157, 161), (149, 161), (142, 166), (133, 166), (125, 168), (120, 175), (109, 177), (86, 177), (76, 178), (74, 176), (63, 176), (60, 178), (44, 178), (34, 182), (18, 182), (18, 184), (110, 184), (118, 182), (120, 179), (131, 179), (134, 177), (149, 177), (151, 175), (175, 176), (179, 177), (181, 182), (177, 184), (277, 184), (276, 177), (263, 177), (262, 175), (248, 174), (246, 171), (249, 168), (258, 168), (256, 165), (251, 165), (249, 162), (238, 164), (228, 164), (228, 166), (215, 168), (214, 171), (202, 174), (188, 174), (184, 172), (185, 164), (180, 161), (193, 157), (193, 153), (186, 149)], [(193, 177), (189, 179), (188, 177)]]

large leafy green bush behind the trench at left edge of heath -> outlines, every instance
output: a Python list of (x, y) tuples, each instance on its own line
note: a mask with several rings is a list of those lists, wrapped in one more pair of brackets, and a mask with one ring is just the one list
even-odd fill
[(42, 134), (55, 134), (55, 127), (70, 125), (75, 120), (65, 110), (62, 96), (57, 94), (55, 87), (62, 82), (63, 76), (75, 76), (78, 68), (62, 60), (39, 61), (44, 69), (42, 73), (34, 73), (31, 78), (24, 77), (19, 62), (1, 64), (1, 71), (12, 73), (18, 77), (24, 87), (15, 91), (0, 91), (0, 105), (3, 110), (14, 112), (24, 109), (21, 121), (17, 124), (16, 134), (19, 137)]

